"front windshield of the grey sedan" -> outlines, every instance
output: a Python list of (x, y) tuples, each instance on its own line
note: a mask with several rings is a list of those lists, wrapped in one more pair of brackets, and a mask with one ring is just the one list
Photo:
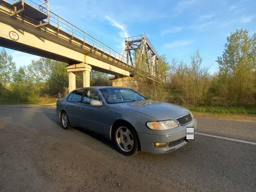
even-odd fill
[(108, 104), (145, 100), (144, 97), (129, 88), (101, 88), (99, 91)]

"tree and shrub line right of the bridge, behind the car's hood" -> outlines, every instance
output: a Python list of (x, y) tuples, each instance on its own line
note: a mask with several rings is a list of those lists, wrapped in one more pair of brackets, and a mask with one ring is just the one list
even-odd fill
[(148, 98), (186, 106), (256, 104), (256, 33), (250, 37), (247, 29), (237, 29), (227, 37), (214, 74), (202, 65), (199, 51), (191, 55), (190, 63), (175, 58), (168, 62), (162, 55), (158, 76), (165, 76), (166, 83), (161, 84), (144, 78), (144, 61), (136, 63), (137, 91)]

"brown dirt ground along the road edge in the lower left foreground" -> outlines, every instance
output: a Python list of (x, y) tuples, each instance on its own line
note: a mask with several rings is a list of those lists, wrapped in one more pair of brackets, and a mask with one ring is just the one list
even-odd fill
[(0, 191), (170, 191), (79, 143), (0, 120)]

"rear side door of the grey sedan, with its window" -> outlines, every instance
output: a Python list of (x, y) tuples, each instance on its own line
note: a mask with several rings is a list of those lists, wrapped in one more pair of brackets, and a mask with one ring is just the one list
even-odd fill
[(67, 98), (67, 102), (65, 104), (65, 111), (67, 112), (69, 122), (74, 127), (79, 127), (83, 124), (83, 120), (80, 118), (80, 104), (83, 93), (84, 89), (73, 91), (69, 98)]

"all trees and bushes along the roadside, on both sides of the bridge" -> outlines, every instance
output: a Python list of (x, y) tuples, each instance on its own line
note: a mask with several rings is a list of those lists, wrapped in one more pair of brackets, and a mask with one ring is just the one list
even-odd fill
[[(137, 87), (150, 99), (183, 105), (193, 112), (256, 115), (256, 33), (246, 29), (230, 33), (223, 54), (216, 58), (219, 69), (209, 72), (208, 63), (196, 51), (190, 63), (168, 61), (165, 55), (154, 70), (164, 81), (159, 84), (145, 78), (145, 58), (136, 56)], [(136, 54), (139, 55), (137, 52)], [(47, 104), (67, 94), (66, 63), (40, 58), (17, 67), (5, 49), (0, 53), (0, 104)], [(91, 86), (111, 86), (105, 73), (91, 72)], [(83, 86), (76, 74), (77, 87)]]

